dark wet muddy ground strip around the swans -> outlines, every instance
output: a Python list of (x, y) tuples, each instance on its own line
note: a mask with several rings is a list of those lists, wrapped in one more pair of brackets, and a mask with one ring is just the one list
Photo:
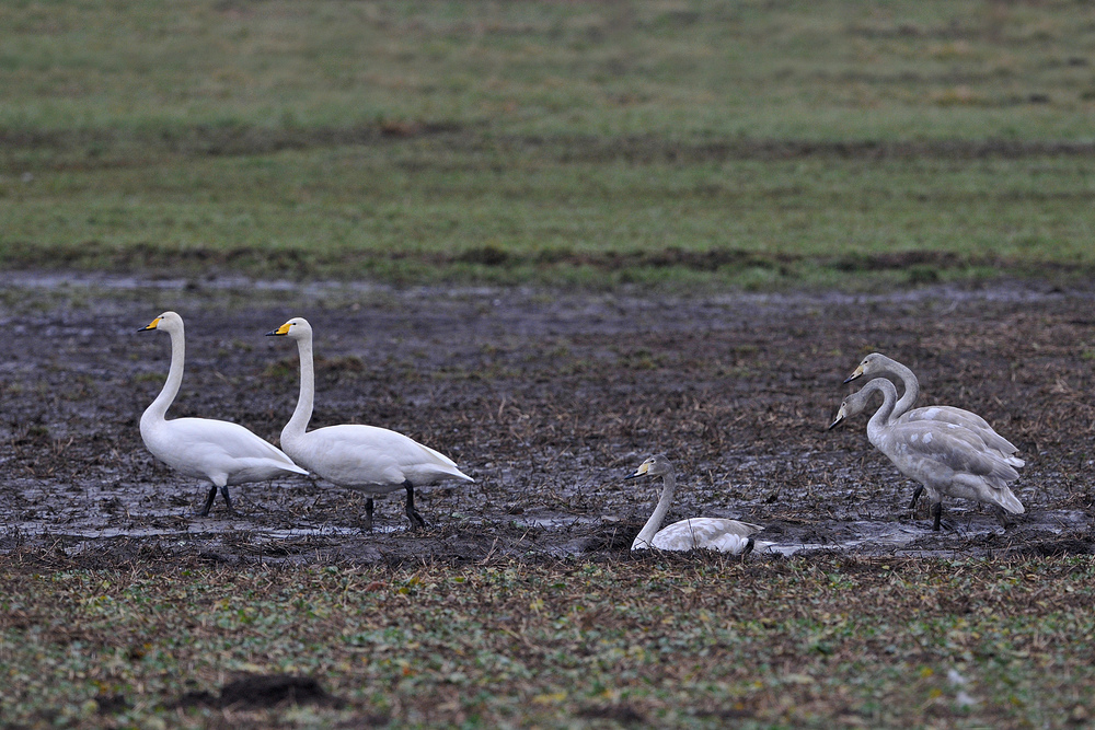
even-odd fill
[[(0, 553), (88, 567), (624, 557), (658, 485), (623, 477), (654, 452), (682, 484), (670, 520), (740, 518), (784, 546), (1095, 551), (1095, 290), (676, 297), (26, 274), (0, 286)], [(193, 517), (206, 487), (158, 464), (138, 431), (169, 341), (137, 329), (166, 309), (187, 327), (171, 415), (276, 442), (297, 355), (264, 334), (301, 315), (316, 332), (313, 427), (399, 430), (476, 483), (422, 489), (420, 533), (397, 499), (362, 532), (361, 495), (306, 478), (235, 487), (237, 514), (218, 498)], [(841, 381), (873, 350), (919, 373), (921, 405), (970, 408), (1019, 447), (1023, 519), (1004, 531), (952, 499), (932, 533), (865, 418), (826, 431)]]

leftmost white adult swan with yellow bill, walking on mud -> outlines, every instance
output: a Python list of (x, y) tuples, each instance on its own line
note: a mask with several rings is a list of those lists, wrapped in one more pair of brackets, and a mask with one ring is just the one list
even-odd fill
[(168, 408), (183, 382), (186, 356), (183, 318), (174, 312), (164, 312), (137, 332), (152, 329), (162, 329), (171, 336), (171, 367), (160, 395), (140, 417), (140, 438), (152, 455), (168, 466), (185, 476), (212, 484), (198, 515), (209, 514), (218, 488), (229, 511), (232, 511), (229, 486), (266, 482), (284, 474), (308, 474), (280, 450), (239, 424), (210, 418), (166, 420)]

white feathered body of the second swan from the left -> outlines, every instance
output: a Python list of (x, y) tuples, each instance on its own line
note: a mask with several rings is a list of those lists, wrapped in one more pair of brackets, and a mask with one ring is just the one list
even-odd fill
[(404, 482), (416, 486), (443, 479), (474, 482), (445, 454), (377, 426), (327, 426), (297, 439), (283, 434), (281, 442), (295, 461), (342, 487), (391, 491)]

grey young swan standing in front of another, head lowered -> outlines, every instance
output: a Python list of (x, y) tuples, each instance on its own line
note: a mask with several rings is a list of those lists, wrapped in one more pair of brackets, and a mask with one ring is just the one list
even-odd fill
[(940, 529), (942, 495), (992, 506), (1004, 526), (1005, 510), (1013, 514), (1026, 511), (1007, 486), (1018, 478), (1018, 472), (1001, 452), (987, 447), (977, 432), (957, 424), (892, 419), (897, 387), (885, 378), (867, 382), (844, 398), (829, 428), (863, 413), (876, 392), (881, 393), (883, 405), (867, 422), (867, 438), (902, 474), (926, 489), (932, 500), (932, 530)]

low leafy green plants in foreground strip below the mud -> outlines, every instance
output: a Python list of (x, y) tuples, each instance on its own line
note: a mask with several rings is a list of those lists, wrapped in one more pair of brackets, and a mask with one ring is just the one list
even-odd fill
[[(1086, 556), (15, 568), (0, 656), (16, 726), (208, 727), (229, 714), (172, 703), (278, 672), (348, 705), (235, 711), (234, 727), (1041, 727), (1095, 711)], [(126, 709), (99, 710), (118, 695)]]

